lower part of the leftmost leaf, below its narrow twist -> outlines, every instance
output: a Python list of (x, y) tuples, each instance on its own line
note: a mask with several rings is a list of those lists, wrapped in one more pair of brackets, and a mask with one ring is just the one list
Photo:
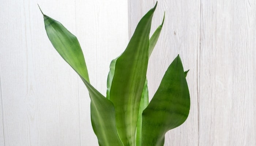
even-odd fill
[[(82, 78), (82, 77), (81, 77)], [(120, 141), (115, 120), (114, 105), (82, 78), (91, 98), (91, 123), (99, 146), (124, 146)]]

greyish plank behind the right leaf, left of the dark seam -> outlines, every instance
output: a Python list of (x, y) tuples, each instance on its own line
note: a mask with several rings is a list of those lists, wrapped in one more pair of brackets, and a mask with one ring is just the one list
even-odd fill
[[(140, 18), (154, 6), (155, 1), (130, 1), (128, 4), (131, 37), (131, 32), (135, 30)], [(162, 33), (149, 60), (148, 90), (152, 98), (167, 67), (177, 54), (180, 54), (184, 69), (190, 69), (187, 81), (191, 95), (191, 111), (182, 126), (167, 132), (165, 145), (196, 146), (198, 145), (197, 52), (199, 50), (200, 2), (199, 0), (158, 1), (151, 32), (161, 24), (164, 11), (166, 18)]]

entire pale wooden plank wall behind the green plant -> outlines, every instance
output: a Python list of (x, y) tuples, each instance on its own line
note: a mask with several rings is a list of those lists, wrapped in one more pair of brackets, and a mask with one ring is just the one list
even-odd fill
[[(48, 40), (37, 7), (75, 34), (103, 95), (110, 61), (155, 0), (0, 0), (0, 146), (97, 146), (90, 99)], [(166, 19), (148, 66), (150, 98), (177, 54), (191, 112), (165, 146), (256, 145), (256, 2), (159, 0)]]

